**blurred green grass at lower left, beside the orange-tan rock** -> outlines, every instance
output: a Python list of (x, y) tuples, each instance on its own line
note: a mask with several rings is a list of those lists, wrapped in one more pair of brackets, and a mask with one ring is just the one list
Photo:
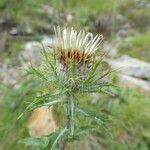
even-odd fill
[[(23, 80), (17, 88), (0, 84), (3, 96), (0, 98), (0, 150), (23, 149), (18, 145), (18, 140), (27, 136), (27, 116), (18, 120), (18, 116), (34, 99), (38, 83), (33, 79)], [(31, 90), (32, 89), (32, 90)]]

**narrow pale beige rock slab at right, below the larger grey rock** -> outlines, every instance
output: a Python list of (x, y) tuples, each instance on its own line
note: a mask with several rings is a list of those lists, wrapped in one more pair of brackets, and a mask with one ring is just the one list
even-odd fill
[(121, 85), (129, 88), (138, 88), (142, 93), (150, 93), (150, 83), (128, 75), (119, 74)]

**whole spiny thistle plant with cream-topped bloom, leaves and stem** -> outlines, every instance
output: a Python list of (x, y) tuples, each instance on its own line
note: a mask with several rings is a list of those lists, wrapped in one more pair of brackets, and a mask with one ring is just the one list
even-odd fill
[[(28, 70), (37, 77), (43, 90), (26, 111), (41, 106), (63, 106), (64, 123), (58, 124), (59, 129), (50, 135), (24, 139), (23, 143), (39, 146), (42, 150), (65, 150), (67, 143), (79, 140), (89, 131), (99, 132), (101, 128), (107, 131), (103, 118), (80, 106), (81, 95), (113, 94), (113, 84), (108, 77), (111, 70), (102, 69), (103, 57), (98, 53), (102, 40), (102, 35), (55, 28), (53, 45), (42, 50), (42, 65), (39, 68), (31, 66)], [(91, 125), (82, 126), (79, 116), (91, 120)]]

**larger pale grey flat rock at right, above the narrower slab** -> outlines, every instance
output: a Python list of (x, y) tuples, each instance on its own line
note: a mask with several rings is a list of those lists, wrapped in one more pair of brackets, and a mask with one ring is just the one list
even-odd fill
[(107, 61), (112, 68), (119, 69), (122, 74), (140, 79), (150, 79), (150, 63), (124, 55)]

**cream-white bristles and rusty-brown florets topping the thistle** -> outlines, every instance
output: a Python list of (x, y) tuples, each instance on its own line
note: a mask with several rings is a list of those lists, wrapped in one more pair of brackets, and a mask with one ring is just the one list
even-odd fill
[(54, 31), (56, 38), (52, 47), (58, 53), (59, 63), (65, 70), (70, 61), (75, 61), (82, 68), (87, 67), (103, 40), (102, 35), (94, 36), (89, 32), (75, 31), (73, 28), (55, 27)]

